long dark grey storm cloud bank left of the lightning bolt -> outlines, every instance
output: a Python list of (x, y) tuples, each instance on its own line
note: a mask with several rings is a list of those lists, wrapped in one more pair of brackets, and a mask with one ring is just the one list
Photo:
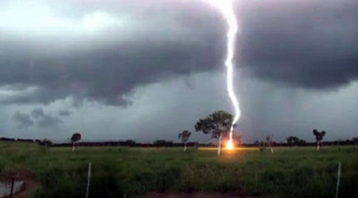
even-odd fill
[[(170, 6), (168, 13), (176, 7)], [(123, 30), (116, 28), (111, 30), (114, 32), (97, 35), (99, 38), (83, 38), (68, 45), (47, 41), (47, 37), (44, 41), (19, 41), (13, 36), (0, 39), (0, 45), (7, 46), (0, 51), (3, 71), (0, 86), (36, 87), (32, 92), (9, 96), (0, 102), (49, 103), (71, 96), (75, 105), (87, 99), (125, 106), (130, 103), (126, 95), (139, 85), (221, 68), (218, 65), (224, 49), (224, 31), (215, 28), (220, 22), (210, 23), (217, 21), (218, 14), (203, 13), (207, 17), (201, 18), (195, 10), (178, 9), (183, 13), (180, 17), (187, 21), (173, 15), (169, 15), (173, 17), (170, 21), (143, 18), (143, 26), (146, 23), (156, 26), (144, 31), (139, 27), (125, 39), (120, 35)]]

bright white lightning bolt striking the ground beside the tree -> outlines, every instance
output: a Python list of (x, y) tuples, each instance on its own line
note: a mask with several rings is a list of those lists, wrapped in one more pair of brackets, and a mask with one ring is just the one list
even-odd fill
[(234, 8), (233, 8), (233, 0), (207, 0), (210, 4), (214, 5), (218, 8), (224, 18), (228, 23), (228, 31), (227, 31), (227, 55), (225, 59), (225, 66), (227, 69), (227, 91), (229, 97), (233, 103), (235, 116), (233, 119), (233, 123), (230, 128), (230, 139), (226, 145), (227, 149), (233, 149), (233, 130), (236, 122), (239, 120), (241, 116), (241, 111), (239, 108), (239, 101), (236, 97), (234, 91), (234, 52), (235, 52), (235, 40), (236, 34), (239, 30), (238, 22), (235, 16)]

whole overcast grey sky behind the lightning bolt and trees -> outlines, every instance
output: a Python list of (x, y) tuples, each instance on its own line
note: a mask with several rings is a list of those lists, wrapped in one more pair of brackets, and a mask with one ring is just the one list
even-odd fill
[[(243, 141), (358, 136), (358, 1), (235, 10)], [(199, 118), (233, 112), (225, 32), (204, 0), (1, 0), (0, 136), (177, 141)]]

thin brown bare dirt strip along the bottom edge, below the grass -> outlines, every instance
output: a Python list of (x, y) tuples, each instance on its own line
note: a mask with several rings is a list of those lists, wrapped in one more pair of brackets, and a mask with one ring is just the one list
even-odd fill
[(220, 193), (149, 193), (144, 198), (259, 198), (239, 197), (231, 194)]

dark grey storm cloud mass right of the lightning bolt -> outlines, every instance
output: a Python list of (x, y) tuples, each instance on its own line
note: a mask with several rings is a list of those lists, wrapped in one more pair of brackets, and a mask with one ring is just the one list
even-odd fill
[(357, 79), (358, 1), (247, 4), (240, 60), (255, 76), (315, 89)]

